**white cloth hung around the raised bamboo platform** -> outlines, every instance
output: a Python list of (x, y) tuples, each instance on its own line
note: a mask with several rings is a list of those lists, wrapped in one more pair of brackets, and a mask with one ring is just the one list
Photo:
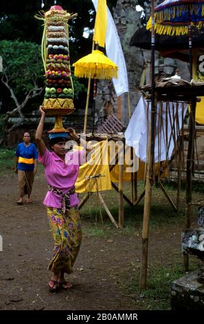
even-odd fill
[[(149, 103), (148, 112), (147, 106), (147, 101), (141, 97), (125, 132), (126, 144), (132, 146), (135, 149), (135, 154), (144, 162), (148, 161), (147, 140), (148, 130), (150, 130), (151, 103)], [(187, 108), (187, 103), (169, 102), (168, 114), (166, 114), (166, 103), (163, 103), (162, 112), (161, 109), (159, 110), (159, 103), (157, 104), (155, 163), (170, 160), (174, 142), (177, 141), (178, 132), (181, 130), (182, 117), (185, 117)], [(175, 123), (174, 118), (177, 112), (177, 123)], [(168, 119), (167, 123), (166, 119)]]

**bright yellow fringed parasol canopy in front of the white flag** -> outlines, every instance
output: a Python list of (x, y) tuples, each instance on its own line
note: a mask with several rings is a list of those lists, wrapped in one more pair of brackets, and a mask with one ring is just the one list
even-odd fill
[(93, 50), (91, 54), (82, 57), (74, 66), (74, 75), (79, 78), (111, 79), (117, 78), (117, 65), (100, 50)]

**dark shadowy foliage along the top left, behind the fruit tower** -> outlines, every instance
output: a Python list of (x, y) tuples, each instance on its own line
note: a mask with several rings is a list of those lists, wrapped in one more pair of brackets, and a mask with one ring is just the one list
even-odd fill
[[(44, 1), (43, 11), (54, 5), (53, 0)], [(117, 0), (107, 0), (109, 9), (116, 5)], [(59, 0), (58, 6), (63, 6), (68, 12), (77, 12), (78, 17), (69, 21), (69, 36), (73, 39), (70, 46), (71, 62), (75, 62), (84, 54), (91, 52), (92, 39), (85, 39), (84, 28), (93, 29), (95, 12), (91, 0)], [(41, 43), (43, 34), (42, 21), (34, 18), (41, 11), (41, 1), (10, 0), (1, 3), (0, 13), (0, 40), (32, 41)]]

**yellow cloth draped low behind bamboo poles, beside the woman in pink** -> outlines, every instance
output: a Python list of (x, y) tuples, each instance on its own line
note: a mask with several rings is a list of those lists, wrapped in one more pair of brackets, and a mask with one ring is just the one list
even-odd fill
[[(113, 170), (109, 171), (110, 163), (118, 150), (115, 142), (101, 141), (92, 146), (93, 151), (89, 153), (88, 162), (80, 166), (76, 180), (76, 192), (78, 193), (111, 190), (111, 181), (119, 182), (119, 165), (115, 165)], [(118, 163), (124, 163), (124, 182), (131, 181), (131, 172), (137, 172), (137, 180), (144, 180), (146, 165), (135, 156), (135, 153), (131, 160), (131, 148), (128, 145), (125, 145), (125, 154), (120, 156)], [(115, 161), (112, 164), (114, 165)], [(166, 161), (155, 163), (154, 170), (155, 176), (160, 178), (168, 176)]]

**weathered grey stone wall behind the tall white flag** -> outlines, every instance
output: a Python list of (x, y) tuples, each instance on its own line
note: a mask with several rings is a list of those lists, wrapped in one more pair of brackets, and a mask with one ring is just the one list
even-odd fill
[[(139, 100), (139, 82), (141, 79), (144, 58), (141, 50), (129, 45), (136, 27), (140, 25), (140, 12), (137, 12), (135, 6), (137, 0), (118, 0), (117, 6), (113, 13), (115, 26), (120, 37), (126, 68), (128, 72), (128, 84), (131, 98), (131, 111), (135, 109)], [(109, 99), (107, 99), (107, 97)], [(124, 122), (128, 124), (128, 99), (127, 94), (122, 94), (121, 98), (115, 96), (112, 83), (109, 81), (100, 81), (98, 83), (97, 98), (97, 117), (95, 122), (100, 125), (107, 115), (105, 106), (109, 107), (109, 111), (114, 112)], [(109, 114), (108, 111), (108, 114)]]

